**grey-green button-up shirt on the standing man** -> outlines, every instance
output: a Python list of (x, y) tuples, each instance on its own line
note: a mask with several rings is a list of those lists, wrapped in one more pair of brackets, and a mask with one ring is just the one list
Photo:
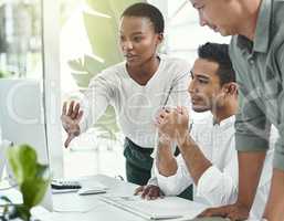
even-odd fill
[(278, 129), (274, 167), (284, 170), (284, 0), (262, 0), (253, 42), (232, 38), (230, 56), (239, 83), (235, 143), (239, 151), (269, 148), (271, 124)]

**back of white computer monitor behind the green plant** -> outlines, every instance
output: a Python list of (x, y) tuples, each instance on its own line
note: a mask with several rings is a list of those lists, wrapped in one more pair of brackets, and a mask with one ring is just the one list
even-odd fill
[[(35, 148), (39, 161), (49, 165), (41, 83), (36, 80), (0, 80), (0, 125), (2, 139)], [(52, 210), (50, 190), (43, 206)]]

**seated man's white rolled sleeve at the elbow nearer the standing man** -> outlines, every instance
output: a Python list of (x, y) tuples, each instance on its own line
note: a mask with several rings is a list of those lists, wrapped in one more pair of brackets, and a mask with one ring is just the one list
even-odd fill
[(234, 179), (211, 166), (200, 177), (197, 197), (204, 198), (214, 207), (232, 203), (236, 199), (238, 185)]

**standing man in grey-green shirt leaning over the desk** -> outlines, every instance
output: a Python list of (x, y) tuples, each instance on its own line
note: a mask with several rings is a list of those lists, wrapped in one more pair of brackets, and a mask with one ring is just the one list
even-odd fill
[[(275, 125), (273, 180), (264, 217), (284, 220), (284, 1), (190, 0), (200, 25), (233, 35), (230, 56), (236, 72), (239, 113), (235, 141), (239, 151), (239, 197), (232, 206), (209, 209), (203, 215), (244, 220), (249, 215)], [(220, 13), (221, 12), (221, 13)]]

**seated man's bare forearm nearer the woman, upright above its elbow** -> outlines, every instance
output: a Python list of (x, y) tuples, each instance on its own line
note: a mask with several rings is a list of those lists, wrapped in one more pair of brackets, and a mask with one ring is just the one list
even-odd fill
[(156, 165), (160, 175), (165, 177), (176, 175), (178, 165), (175, 156), (171, 152), (170, 143), (159, 143)]

